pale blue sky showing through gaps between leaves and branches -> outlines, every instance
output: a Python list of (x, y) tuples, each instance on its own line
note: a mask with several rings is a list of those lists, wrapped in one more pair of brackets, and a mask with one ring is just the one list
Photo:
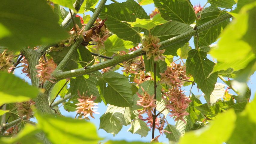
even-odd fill
[[(124, 2), (125, 0), (117, 0), (117, 1), (118, 1), (118, 2)], [(191, 3), (192, 3), (193, 5), (201, 4), (201, 6), (203, 6), (206, 2), (207, 2), (207, 0), (191, 0)], [(106, 4), (110, 4), (110, 3), (112, 3), (112, 1), (108, 0)], [(207, 4), (207, 6), (209, 6), (209, 5), (210, 5), (210, 4)], [(142, 6), (142, 7), (145, 9), (146, 13), (148, 13), (148, 14), (151, 13), (152, 10), (154, 10), (154, 4), (145, 5), (145, 6)], [(87, 15), (87, 14), (92, 14), (92, 13), (91, 13), (91, 12), (85, 13), (85, 15)], [(81, 16), (82, 16), (82, 15), (81, 15)], [(189, 41), (189, 43), (190, 43), (190, 46), (192, 47), (192, 49), (194, 49), (193, 38), (191, 38), (191, 40)], [(209, 59), (212, 59), (212, 58), (209, 57)], [(120, 70), (118, 70), (118, 72), (120, 72)], [(15, 75), (21, 77), (22, 79), (25, 78), (25, 75), (24, 75), (24, 74), (20, 74), (20, 73), (22, 73), (22, 72), (21, 72), (21, 68), (15, 69)], [(122, 73), (122, 72), (120, 72), (120, 73)], [(27, 79), (27, 78), (25, 78), (25, 79)], [(251, 81), (248, 81), (248, 86), (249, 86), (249, 88), (252, 88), (252, 89), (251, 89), (251, 92), (252, 92), (252, 95), (254, 95), (254, 94), (255, 94), (255, 88), (254, 88), (254, 86), (255, 86), (255, 82), (256, 82), (256, 76), (255, 76), (255, 74), (254, 74), (253, 76), (251, 76), (250, 80), (251, 80)], [(28, 80), (28, 81), (29, 81), (29, 80)], [(217, 82), (224, 83), (224, 82), (222, 82), (220, 79), (218, 79)], [(184, 91), (187, 91), (187, 92), (185, 93), (186, 95), (189, 95), (190, 87), (191, 87), (191, 85), (182, 88)], [(200, 90), (199, 90), (199, 92), (197, 92), (196, 86), (193, 86), (192, 92), (193, 92), (195, 95), (201, 95), (201, 94), (202, 94), (202, 92), (201, 92)], [(230, 93), (235, 94), (232, 90), (230, 90)], [(251, 100), (252, 100), (252, 99), (253, 99), (253, 98), (251, 98)], [(203, 96), (200, 97), (200, 100), (201, 100), (203, 103), (205, 103), (205, 100), (204, 100)], [(59, 106), (60, 106), (60, 105), (59, 105)], [(100, 104), (98, 105), (98, 107), (99, 107), (99, 108), (98, 108), (98, 112), (99, 112), (100, 114), (94, 114), (93, 116), (95, 117), (95, 119), (90, 118), (91, 122), (93, 122), (93, 123), (96, 125), (97, 128), (99, 128), (99, 118), (100, 118), (100, 116), (101, 116), (102, 114), (104, 114), (105, 111), (106, 111), (106, 106), (105, 106), (105, 104), (100, 103)], [(65, 116), (68, 116), (68, 117), (74, 118), (75, 115), (76, 115), (75, 112), (71, 112), (71, 113), (66, 112), (66, 111), (63, 109), (63, 107), (59, 108), (59, 110), (61, 111), (62, 115), (65, 115)], [(169, 124), (173, 124), (173, 125), (175, 124), (174, 121), (173, 121), (173, 119), (170, 119), (170, 118), (168, 119), (168, 123), (169, 123)], [(148, 134), (147, 137), (142, 137), (142, 138), (141, 138), (141, 136), (140, 136), (139, 134), (132, 134), (132, 133), (130, 133), (130, 132), (127, 132), (127, 129), (128, 129), (129, 127), (130, 127), (130, 125), (128, 125), (128, 126), (123, 126), (122, 130), (121, 130), (115, 137), (113, 137), (112, 134), (106, 133), (106, 132), (105, 132), (104, 130), (102, 130), (102, 129), (100, 129), (100, 130), (98, 131), (98, 134), (99, 134), (99, 136), (105, 138), (105, 140), (126, 140), (126, 141), (144, 141), (144, 142), (149, 142), (149, 141), (151, 140), (151, 134), (152, 134), (151, 132), (149, 132), (149, 134)], [(85, 134), (86, 134), (86, 130), (85, 130)], [(158, 135), (160, 135), (160, 134), (159, 134), (159, 132), (156, 130), (156, 132), (155, 132), (155, 137), (158, 136)], [(168, 139), (165, 138), (165, 136), (160, 136), (160, 137), (159, 137), (159, 141), (160, 141), (160, 142), (162, 141), (163, 143), (168, 143)]]

